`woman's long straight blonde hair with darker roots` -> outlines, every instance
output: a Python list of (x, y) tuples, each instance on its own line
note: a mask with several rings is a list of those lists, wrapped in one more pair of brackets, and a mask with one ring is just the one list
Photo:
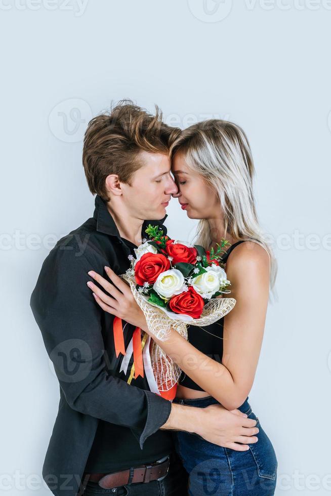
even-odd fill
[[(172, 156), (181, 152), (188, 167), (202, 175), (219, 196), (224, 216), (224, 237), (256, 239), (270, 256), (270, 288), (277, 275), (277, 261), (264, 239), (255, 208), (251, 148), (243, 130), (221, 119), (198, 122), (182, 131), (171, 146)], [(196, 244), (209, 250), (212, 243), (208, 220), (197, 226)]]

